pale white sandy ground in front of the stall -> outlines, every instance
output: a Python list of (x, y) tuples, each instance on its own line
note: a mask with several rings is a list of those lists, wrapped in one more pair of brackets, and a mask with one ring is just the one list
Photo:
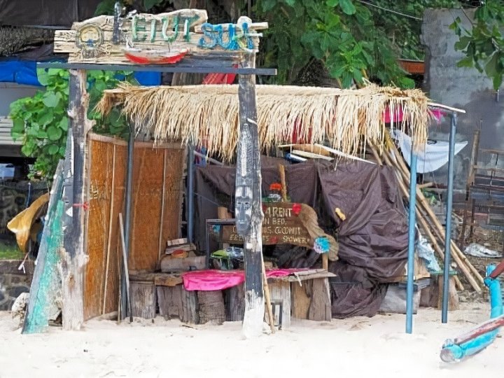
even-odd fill
[(444, 339), (488, 318), (489, 304), (465, 304), (440, 322), (421, 309), (414, 334), (404, 315), (316, 323), (243, 339), (239, 323), (188, 328), (178, 321), (90, 321), (85, 330), (21, 335), (0, 312), (0, 377), (503, 377), (504, 339), (455, 365), (439, 358)]

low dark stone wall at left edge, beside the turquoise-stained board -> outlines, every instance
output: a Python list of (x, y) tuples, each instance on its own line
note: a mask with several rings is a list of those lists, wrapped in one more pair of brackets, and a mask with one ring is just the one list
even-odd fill
[(0, 311), (10, 311), (21, 293), (28, 293), (34, 272), (33, 261), (25, 262), (25, 272), (18, 270), (20, 260), (0, 260)]

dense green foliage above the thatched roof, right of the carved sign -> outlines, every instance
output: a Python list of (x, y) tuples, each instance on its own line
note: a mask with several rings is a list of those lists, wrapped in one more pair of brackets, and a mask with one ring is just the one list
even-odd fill
[[(462, 1), (465, 2), (465, 1)], [(397, 59), (423, 59), (421, 18), (426, 8), (454, 8), (455, 0), (258, 0), (269, 30), (264, 64), (277, 66), (279, 83), (291, 83), (310, 59), (320, 59), (343, 87), (365, 76), (412, 87)]]

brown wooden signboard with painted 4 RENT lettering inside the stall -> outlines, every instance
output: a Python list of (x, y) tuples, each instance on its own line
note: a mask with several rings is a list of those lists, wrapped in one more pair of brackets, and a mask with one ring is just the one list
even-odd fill
[[(337, 242), (318, 227), (314, 209), (307, 204), (290, 202), (262, 203), (262, 244), (293, 244), (307, 248), (314, 247), (316, 237), (326, 237), (330, 244), (330, 260), (337, 259)], [(243, 239), (237, 235), (236, 226), (223, 226), (222, 241), (241, 244)]]

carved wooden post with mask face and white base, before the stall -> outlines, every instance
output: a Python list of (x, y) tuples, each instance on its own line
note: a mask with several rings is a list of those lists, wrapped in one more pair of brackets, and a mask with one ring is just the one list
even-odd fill
[[(244, 67), (255, 66), (255, 54), (248, 55)], [(262, 203), (260, 149), (255, 108), (255, 75), (239, 76), (240, 139), (237, 148), (235, 207), (237, 230), (244, 237), (245, 337), (262, 334), (265, 314), (262, 290)]]

